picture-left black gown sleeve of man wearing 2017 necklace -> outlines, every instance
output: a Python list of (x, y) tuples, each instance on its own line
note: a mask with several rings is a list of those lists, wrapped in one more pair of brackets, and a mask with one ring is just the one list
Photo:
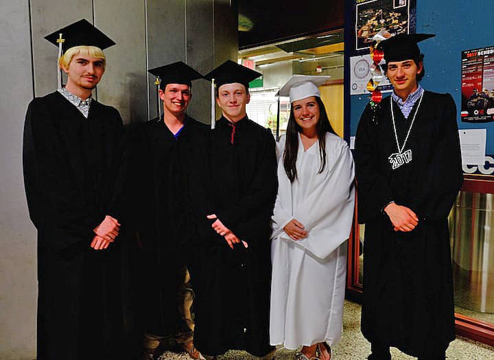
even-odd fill
[[(391, 202), (393, 194), (384, 176), (379, 173), (377, 124), (368, 105), (357, 127), (355, 137), (355, 174), (357, 178), (358, 221), (364, 224)], [(376, 116), (379, 116), (379, 109)]]

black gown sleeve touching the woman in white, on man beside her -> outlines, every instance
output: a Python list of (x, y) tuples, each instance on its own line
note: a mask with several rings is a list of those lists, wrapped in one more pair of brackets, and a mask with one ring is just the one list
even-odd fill
[(257, 172), (244, 196), (230, 208), (217, 211), (216, 215), (227, 228), (235, 228), (239, 222), (248, 221), (265, 208), (274, 206), (278, 191), (276, 143), (270, 130), (263, 132), (263, 147), (259, 150)]

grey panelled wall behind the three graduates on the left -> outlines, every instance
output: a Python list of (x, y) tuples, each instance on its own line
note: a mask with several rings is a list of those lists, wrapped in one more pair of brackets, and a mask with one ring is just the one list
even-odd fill
[[(231, 0), (0, 0), (0, 359), (36, 357), (36, 229), (27, 214), (22, 132), (27, 104), (56, 89), (54, 45), (43, 37), (87, 19), (117, 45), (105, 51), (95, 96), (126, 123), (156, 116), (147, 69), (183, 60), (203, 73), (237, 56)], [(193, 84), (189, 114), (208, 122), (209, 83)], [(70, 331), (70, 329), (60, 329)]]

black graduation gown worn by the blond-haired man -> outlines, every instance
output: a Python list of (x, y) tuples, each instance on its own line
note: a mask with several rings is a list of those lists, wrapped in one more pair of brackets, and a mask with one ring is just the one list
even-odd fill
[(93, 100), (86, 119), (60, 93), (31, 101), (23, 167), (38, 230), (38, 360), (110, 359), (121, 346), (119, 240), (93, 250), (105, 215), (120, 219), (124, 127)]

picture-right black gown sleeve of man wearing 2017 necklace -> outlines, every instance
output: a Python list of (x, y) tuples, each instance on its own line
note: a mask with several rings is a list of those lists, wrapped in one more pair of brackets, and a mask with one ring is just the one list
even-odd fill
[(422, 219), (445, 219), (463, 182), (456, 105), (444, 95), (434, 119), (431, 152), (416, 197), (410, 208)]

